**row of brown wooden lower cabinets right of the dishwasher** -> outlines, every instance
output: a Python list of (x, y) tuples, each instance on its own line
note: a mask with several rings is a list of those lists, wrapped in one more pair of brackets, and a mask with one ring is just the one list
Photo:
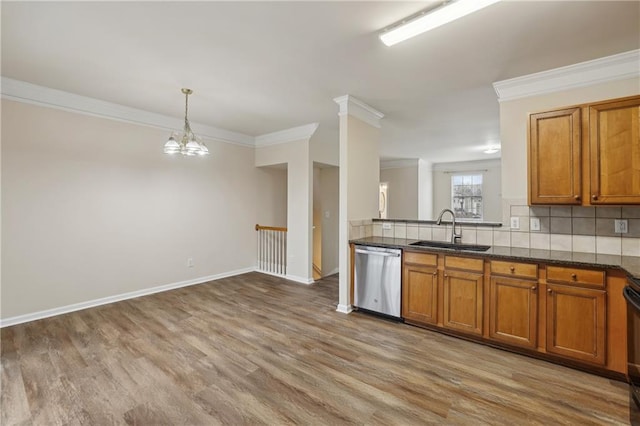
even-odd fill
[(409, 250), (403, 256), (406, 322), (626, 374), (624, 272)]

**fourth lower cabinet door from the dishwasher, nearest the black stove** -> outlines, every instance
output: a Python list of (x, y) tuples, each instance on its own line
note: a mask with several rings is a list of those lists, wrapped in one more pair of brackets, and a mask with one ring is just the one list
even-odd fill
[(547, 285), (547, 352), (605, 364), (606, 292)]

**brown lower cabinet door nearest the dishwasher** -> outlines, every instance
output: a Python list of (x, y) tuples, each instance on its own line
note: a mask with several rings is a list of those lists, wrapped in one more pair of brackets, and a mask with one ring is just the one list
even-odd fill
[(435, 324), (438, 313), (438, 270), (435, 266), (405, 265), (402, 317)]

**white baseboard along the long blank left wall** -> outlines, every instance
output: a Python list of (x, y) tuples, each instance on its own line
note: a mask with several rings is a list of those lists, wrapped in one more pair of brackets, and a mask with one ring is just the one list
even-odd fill
[(129, 293), (116, 294), (114, 296), (107, 296), (101, 299), (94, 299), (94, 300), (88, 300), (86, 302), (74, 303), (72, 305), (61, 306), (59, 308), (53, 308), (53, 309), (47, 309), (44, 311), (34, 312), (31, 314), (18, 315), (15, 317), (0, 319), (0, 328), (9, 327), (11, 325), (16, 325), (16, 324), (22, 324), (30, 321), (36, 321), (43, 318), (49, 318), (56, 315), (68, 314), (69, 312), (80, 311), (82, 309), (93, 308), (101, 305), (107, 305), (109, 303), (120, 302), (122, 300), (135, 299), (136, 297), (147, 296), (149, 294), (160, 293), (163, 291), (173, 290), (176, 288), (202, 284), (208, 281), (219, 280), (221, 278), (246, 274), (247, 272), (253, 272), (255, 270), (256, 268), (238, 269), (235, 271), (223, 272), (221, 274), (209, 275), (208, 277), (194, 278), (192, 280), (180, 281), (177, 283), (161, 285), (158, 287), (145, 288), (142, 290), (132, 291)]

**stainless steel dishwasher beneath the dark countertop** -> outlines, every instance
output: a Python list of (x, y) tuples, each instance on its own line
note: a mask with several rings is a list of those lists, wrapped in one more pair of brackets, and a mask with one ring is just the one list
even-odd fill
[(355, 251), (354, 306), (399, 319), (402, 251), (358, 245)]

